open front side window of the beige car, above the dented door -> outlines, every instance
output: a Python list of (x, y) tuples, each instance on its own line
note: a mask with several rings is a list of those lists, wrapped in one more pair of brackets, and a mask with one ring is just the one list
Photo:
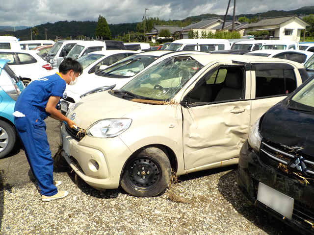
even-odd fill
[(244, 98), (244, 70), (237, 67), (209, 71), (189, 94), (190, 104), (228, 102)]

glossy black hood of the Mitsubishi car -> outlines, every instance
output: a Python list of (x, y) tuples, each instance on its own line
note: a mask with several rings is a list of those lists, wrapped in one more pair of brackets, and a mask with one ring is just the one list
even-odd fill
[(288, 146), (298, 153), (314, 156), (313, 123), (313, 114), (290, 110), (283, 101), (265, 113), (261, 135), (268, 141)]

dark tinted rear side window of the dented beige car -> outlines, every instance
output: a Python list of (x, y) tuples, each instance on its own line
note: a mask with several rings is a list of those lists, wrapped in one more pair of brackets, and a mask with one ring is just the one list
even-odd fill
[(290, 94), (296, 88), (292, 69), (256, 70), (256, 98)]

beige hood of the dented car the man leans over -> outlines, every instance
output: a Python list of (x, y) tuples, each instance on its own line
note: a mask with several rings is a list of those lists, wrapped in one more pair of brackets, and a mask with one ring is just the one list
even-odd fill
[(78, 127), (87, 129), (88, 126), (98, 120), (131, 118), (127, 116), (130, 112), (140, 110), (145, 105), (113, 96), (108, 92), (101, 92), (90, 94), (75, 103), (73, 111), (68, 112), (67, 117), (70, 118), (75, 113), (75, 123)]

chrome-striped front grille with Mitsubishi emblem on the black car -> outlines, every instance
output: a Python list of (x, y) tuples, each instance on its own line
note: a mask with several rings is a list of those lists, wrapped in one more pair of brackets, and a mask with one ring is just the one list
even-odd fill
[(273, 168), (297, 172), (305, 178), (314, 179), (314, 160), (298, 153), (299, 148), (284, 147), (271, 141), (262, 141), (261, 160)]

